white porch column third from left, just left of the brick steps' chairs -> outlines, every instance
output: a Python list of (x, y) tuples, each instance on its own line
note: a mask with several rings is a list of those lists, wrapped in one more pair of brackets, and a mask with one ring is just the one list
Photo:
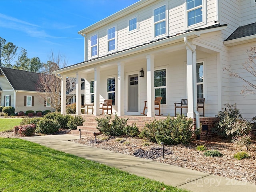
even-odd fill
[(94, 68), (94, 115), (100, 115), (100, 68)]

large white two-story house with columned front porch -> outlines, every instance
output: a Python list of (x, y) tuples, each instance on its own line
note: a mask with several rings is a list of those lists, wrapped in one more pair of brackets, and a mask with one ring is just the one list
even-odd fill
[(94, 102), (94, 115), (105, 99), (113, 100), (118, 116), (140, 115), (147, 100), (147, 116), (154, 117), (156, 96), (163, 98), (164, 116), (174, 116), (182, 98), (188, 99), (185, 114), (197, 120), (197, 98), (205, 98), (207, 117), (227, 102), (244, 118), (256, 114), (255, 95), (241, 95), (245, 83), (223, 70), (244, 72), (246, 50), (256, 46), (256, 0), (141, 0), (78, 34), (85, 38), (84, 62), (54, 73), (78, 84), (84, 78), (84, 102)]

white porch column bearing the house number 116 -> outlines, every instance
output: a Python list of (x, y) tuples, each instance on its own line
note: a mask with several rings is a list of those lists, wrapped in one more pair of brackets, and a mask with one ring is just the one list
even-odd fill
[(124, 63), (118, 62), (117, 116), (124, 116)]

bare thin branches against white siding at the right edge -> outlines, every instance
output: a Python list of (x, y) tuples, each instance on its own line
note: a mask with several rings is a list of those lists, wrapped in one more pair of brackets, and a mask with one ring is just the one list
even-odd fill
[(230, 66), (228, 68), (225, 67), (224, 70), (230, 72), (230, 76), (240, 78), (246, 82), (247, 85), (244, 85), (244, 89), (241, 90), (241, 94), (256, 94), (256, 47), (252, 46), (249, 50), (246, 50), (246, 52), (248, 54), (248, 59), (244, 64), (242, 64), (242, 69), (251, 74), (249, 78), (242, 77), (238, 73), (233, 72)]

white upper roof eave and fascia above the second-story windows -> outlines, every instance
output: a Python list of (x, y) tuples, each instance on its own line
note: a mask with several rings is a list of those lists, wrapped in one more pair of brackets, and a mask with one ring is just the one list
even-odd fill
[(104, 18), (100, 20), (99, 22), (96, 22), (95, 24), (92, 24), (91, 26), (88, 26), (80, 31), (78, 31), (78, 34), (87, 34), (91, 32), (92, 30), (96, 30), (97, 28), (100, 28), (102, 26), (108, 25), (110, 22), (113, 22), (114, 20), (117, 20), (123, 16), (127, 16), (127, 14), (130, 14), (140, 8), (143, 8), (147, 6), (148, 4), (151, 4), (153, 2), (156, 2), (157, 0), (140, 0), (110, 16), (107, 18)]

